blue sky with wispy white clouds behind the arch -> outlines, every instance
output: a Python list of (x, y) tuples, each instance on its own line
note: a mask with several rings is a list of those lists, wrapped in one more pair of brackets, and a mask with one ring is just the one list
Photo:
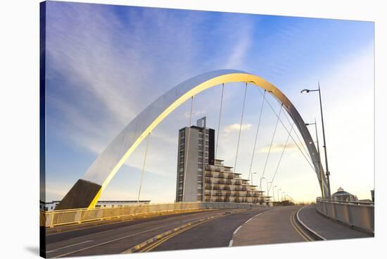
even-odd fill
[[(276, 85), (305, 122), (317, 120), (321, 86), (332, 193), (370, 198), (374, 189), (374, 23), (167, 8), (48, 1), (46, 7), (46, 201), (60, 200), (99, 153), (152, 101), (203, 72), (237, 69)], [(233, 166), (245, 88), (226, 84), (217, 158)], [(248, 177), (262, 91), (248, 86), (236, 171)], [(217, 130), (222, 87), (194, 97), (193, 119)], [(280, 104), (270, 105), (279, 113)], [(183, 103), (153, 130), (141, 199), (175, 200), (178, 131), (189, 124)], [(281, 120), (290, 129), (286, 114)], [(263, 105), (253, 184), (265, 160), (267, 181), (296, 201), (321, 194), (315, 172)], [(315, 137), (315, 128), (310, 126)], [(217, 134), (216, 132), (215, 134)], [(296, 134), (292, 134), (302, 146)], [(300, 134), (299, 134), (300, 136)], [(137, 200), (146, 141), (127, 159), (101, 200)], [(322, 145), (320, 145), (322, 149)], [(324, 159), (324, 158), (323, 158)], [(323, 160), (324, 161), (324, 160)], [(277, 196), (277, 189), (274, 195)], [(272, 191), (271, 191), (272, 194)]]

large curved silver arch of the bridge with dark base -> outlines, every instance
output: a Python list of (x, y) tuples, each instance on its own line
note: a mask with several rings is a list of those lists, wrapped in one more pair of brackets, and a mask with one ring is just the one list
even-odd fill
[(58, 209), (94, 208), (101, 192), (106, 188), (122, 164), (125, 163), (125, 160), (139, 146), (141, 141), (148, 136), (149, 132), (167, 117), (167, 115), (190, 99), (191, 96), (195, 96), (201, 91), (215, 87), (218, 84), (229, 82), (247, 82), (254, 84), (257, 87), (265, 89), (275, 99), (283, 103), (284, 109), (295, 122), (305, 141), (320, 187), (324, 188), (324, 194), (327, 194), (326, 178), (320, 171), (322, 168), (319, 165), (315, 142), (312, 140), (303, 118), (301, 118), (298, 110), (296, 110), (291, 101), (277, 87), (261, 77), (241, 70), (215, 70), (192, 77), (178, 84), (139, 113), (110, 142), (96, 160), (94, 160), (94, 163), (91, 164), (82, 179), (77, 181), (74, 187), (65, 195), (61, 203), (59, 203)]

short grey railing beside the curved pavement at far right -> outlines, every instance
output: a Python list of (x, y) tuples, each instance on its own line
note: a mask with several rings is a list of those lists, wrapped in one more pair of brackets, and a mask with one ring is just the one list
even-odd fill
[(319, 213), (331, 219), (374, 233), (374, 203), (361, 201), (331, 201), (317, 198)]

